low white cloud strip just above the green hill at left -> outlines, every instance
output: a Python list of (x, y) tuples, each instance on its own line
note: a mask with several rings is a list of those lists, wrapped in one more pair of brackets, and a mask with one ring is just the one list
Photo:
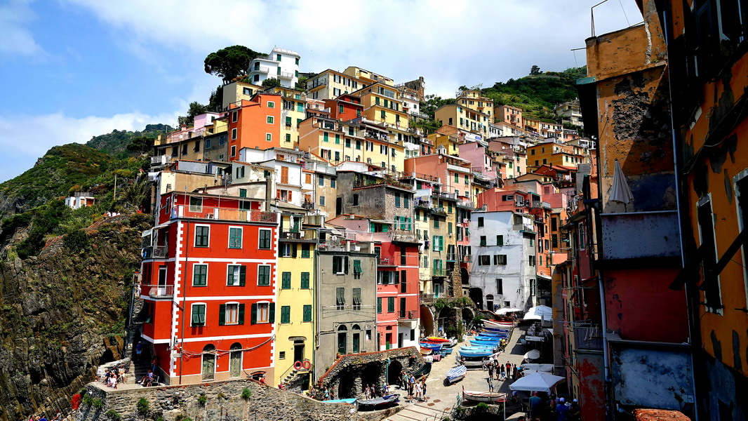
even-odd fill
[[(34, 165), (38, 158), (55, 145), (85, 144), (93, 136), (117, 130), (142, 130), (149, 123), (172, 123), (177, 113), (147, 115), (137, 111), (111, 117), (68, 117), (62, 112), (44, 115), (0, 117), (0, 150), (3, 165), (0, 180), (17, 176)], [(19, 129), (26, 128), (26, 129)]]

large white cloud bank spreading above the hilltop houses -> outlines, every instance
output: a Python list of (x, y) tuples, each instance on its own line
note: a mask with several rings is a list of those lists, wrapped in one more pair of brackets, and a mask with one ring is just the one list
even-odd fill
[[(424, 76), (427, 90), (442, 96), (461, 84), (527, 75), (533, 64), (574, 66), (570, 50), (584, 46), (589, 7), (598, 2), (72, 1), (123, 30), (134, 49), (160, 44), (200, 60), (236, 43), (266, 52), (278, 45), (298, 51), (304, 71), (355, 65), (398, 82)], [(625, 3), (631, 23), (640, 21), (634, 1)], [(598, 34), (627, 25), (621, 3), (610, 4), (595, 8)]]

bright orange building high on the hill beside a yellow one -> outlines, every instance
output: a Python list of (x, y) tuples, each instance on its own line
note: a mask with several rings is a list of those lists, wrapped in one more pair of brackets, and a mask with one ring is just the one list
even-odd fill
[(241, 105), (229, 105), (228, 159), (239, 159), (243, 147), (266, 150), (281, 147), (281, 107), (277, 93), (257, 93)]

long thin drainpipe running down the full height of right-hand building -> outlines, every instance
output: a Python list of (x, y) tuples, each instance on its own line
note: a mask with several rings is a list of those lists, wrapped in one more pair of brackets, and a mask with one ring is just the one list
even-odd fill
[[(668, 13), (667, 10), (663, 10), (663, 32), (665, 34), (665, 46), (668, 51), (669, 55), (669, 47), (670, 47), (670, 33), (669, 31), (672, 29), (669, 27), (668, 22)], [(683, 209), (681, 207), (681, 200), (684, 197), (683, 187), (681, 185), (681, 162), (679, 159), (679, 155), (681, 151), (678, 148), (678, 133), (675, 132), (675, 117), (673, 117), (673, 109), (672, 109), (672, 79), (670, 79), (669, 75), (669, 67), (668, 67), (668, 78), (667, 78), (667, 86), (668, 86), (668, 93), (670, 96), (670, 102), (669, 102), (669, 108), (670, 108), (670, 135), (672, 137), (672, 162), (673, 166), (675, 168), (675, 204), (678, 209), (678, 239), (680, 241), (681, 246), (681, 267), (685, 268), (686, 266), (686, 250), (684, 248), (684, 241), (683, 241), (683, 220), (684, 220), (684, 213)], [(696, 293), (694, 295), (694, 292)], [(685, 283), (684, 285), (684, 294), (686, 296), (686, 311), (687, 311), (687, 318), (688, 318), (688, 342), (690, 346), (690, 361), (691, 361), (691, 382), (693, 383), (693, 415), (696, 417), (696, 421), (699, 421), (699, 411), (698, 411), (698, 402), (696, 399), (696, 387), (699, 387), (699, 384), (704, 384), (703, 381), (696, 381), (696, 345), (701, 343), (701, 330), (699, 328), (699, 319), (696, 317), (697, 310), (699, 309), (699, 291), (693, 291), (693, 286), (689, 285), (689, 283)], [(694, 338), (694, 335), (696, 335), (696, 338)], [(700, 372), (700, 371), (699, 371)], [(702, 377), (699, 375), (699, 377)]]

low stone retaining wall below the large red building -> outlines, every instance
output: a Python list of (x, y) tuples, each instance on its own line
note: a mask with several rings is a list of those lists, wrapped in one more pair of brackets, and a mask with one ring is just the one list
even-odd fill
[[(251, 391), (248, 400), (242, 390)], [(351, 405), (326, 404), (313, 399), (269, 387), (248, 379), (214, 381), (185, 386), (144, 387), (128, 390), (105, 390), (88, 384), (91, 399), (102, 405), (81, 405), (76, 421), (110, 420), (116, 411), (123, 421), (156, 420), (162, 417), (173, 421), (178, 415), (192, 420), (347, 420)], [(205, 395), (205, 405), (198, 398)], [(138, 400), (149, 402), (148, 414), (138, 414)], [(100, 408), (96, 408), (99, 406)]]

